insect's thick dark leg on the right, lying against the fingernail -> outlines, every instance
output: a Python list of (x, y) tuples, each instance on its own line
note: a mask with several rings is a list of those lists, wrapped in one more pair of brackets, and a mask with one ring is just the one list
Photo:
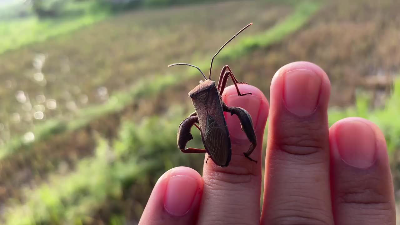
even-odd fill
[(240, 121), (240, 127), (242, 127), (242, 131), (246, 134), (247, 139), (250, 141), (250, 147), (247, 152), (244, 152), (244, 156), (250, 161), (256, 162), (256, 160), (250, 158), (250, 154), (254, 151), (257, 146), (257, 137), (254, 132), (254, 126), (252, 118), (250, 114), (244, 109), (240, 107), (228, 107), (224, 105), (224, 111), (230, 112), (230, 115), (237, 115)]

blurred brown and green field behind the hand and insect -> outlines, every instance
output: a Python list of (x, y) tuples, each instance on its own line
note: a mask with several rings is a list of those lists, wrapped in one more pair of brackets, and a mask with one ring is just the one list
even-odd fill
[[(344, 2), (237, 0), (99, 11), (106, 15), (100, 22), (86, 26), (97, 19), (77, 18), (69, 21), (73, 29), (60, 26), (51, 35), (32, 25), (48, 36), (32, 35), (23, 47), (15, 41), (14, 50), (0, 54), (0, 221), (135, 224), (164, 171), (186, 165), (201, 172), (204, 155), (176, 148), (176, 129), (193, 111), (187, 93), (201, 76), (166, 65), (184, 61), (206, 72), (221, 44), (249, 22), (216, 59), (214, 76), (229, 64), (268, 97), (284, 64), (319, 64), (332, 83), (330, 125), (349, 116), (377, 123), (397, 190), (400, 83), (392, 80), (400, 65), (400, 4)], [(15, 32), (9, 38), (20, 38)], [(200, 147), (194, 135), (191, 145)]]

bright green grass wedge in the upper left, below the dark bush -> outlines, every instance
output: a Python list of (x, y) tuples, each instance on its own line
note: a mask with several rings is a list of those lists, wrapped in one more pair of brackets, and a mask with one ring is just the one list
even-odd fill
[[(66, 12), (79, 12), (76, 16), (61, 16), (60, 18), (38, 19), (30, 14), (26, 18), (16, 18), (0, 22), (0, 54), (21, 46), (42, 42), (50, 37), (66, 34), (83, 26), (103, 20), (111, 14), (108, 11), (92, 10), (93, 1), (69, 2)], [(15, 7), (15, 6), (14, 6)]]

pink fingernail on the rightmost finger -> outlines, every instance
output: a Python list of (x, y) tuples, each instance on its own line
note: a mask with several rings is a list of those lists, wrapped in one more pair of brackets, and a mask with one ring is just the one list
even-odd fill
[(351, 121), (336, 129), (336, 146), (342, 160), (365, 169), (375, 162), (375, 133), (362, 121)]

